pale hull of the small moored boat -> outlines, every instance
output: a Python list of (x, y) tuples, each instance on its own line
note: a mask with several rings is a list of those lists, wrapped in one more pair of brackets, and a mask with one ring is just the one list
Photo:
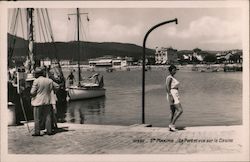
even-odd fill
[(100, 87), (69, 87), (68, 95), (70, 100), (82, 100), (105, 96), (105, 91)]

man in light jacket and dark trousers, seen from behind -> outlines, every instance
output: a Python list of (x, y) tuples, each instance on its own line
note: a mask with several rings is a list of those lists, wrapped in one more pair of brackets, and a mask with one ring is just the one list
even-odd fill
[(58, 89), (59, 85), (45, 77), (46, 74), (43, 68), (37, 67), (35, 74), (36, 79), (33, 81), (30, 90), (35, 122), (35, 133), (32, 134), (32, 136), (41, 136), (40, 130), (45, 128), (48, 135), (53, 135), (51, 122), (51, 91)]

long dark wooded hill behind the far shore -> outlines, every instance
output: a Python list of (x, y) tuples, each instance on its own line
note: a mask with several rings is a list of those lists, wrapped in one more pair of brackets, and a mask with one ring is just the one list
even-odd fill
[[(8, 34), (8, 47), (13, 47), (12, 43), (15, 36)], [(129, 43), (115, 43), (115, 42), (80, 42), (81, 60), (101, 57), (104, 55), (111, 56), (130, 56), (135, 59), (142, 57), (142, 47)], [(59, 59), (77, 60), (77, 42), (55, 42), (55, 43), (35, 43), (35, 54), (38, 58), (56, 58)], [(15, 49), (13, 56), (27, 56), (28, 41), (16, 37)], [(146, 49), (148, 56), (154, 55), (155, 51)]]

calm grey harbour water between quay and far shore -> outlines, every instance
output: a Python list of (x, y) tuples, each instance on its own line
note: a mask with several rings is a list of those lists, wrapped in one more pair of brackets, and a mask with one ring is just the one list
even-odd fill
[[(68, 103), (66, 120), (74, 123), (132, 125), (141, 123), (141, 70), (100, 72), (106, 96)], [(77, 73), (75, 72), (75, 75)], [(146, 72), (145, 122), (166, 127), (170, 120), (164, 69)], [(65, 72), (65, 76), (68, 72)], [(90, 76), (91, 72), (83, 72)], [(177, 126), (242, 124), (242, 73), (201, 73), (180, 70), (183, 114)]]

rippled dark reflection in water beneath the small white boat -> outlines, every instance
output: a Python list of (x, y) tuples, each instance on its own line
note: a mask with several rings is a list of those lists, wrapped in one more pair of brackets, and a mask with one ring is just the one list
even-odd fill
[(87, 120), (95, 120), (105, 113), (105, 97), (70, 101), (67, 121), (84, 124)]

